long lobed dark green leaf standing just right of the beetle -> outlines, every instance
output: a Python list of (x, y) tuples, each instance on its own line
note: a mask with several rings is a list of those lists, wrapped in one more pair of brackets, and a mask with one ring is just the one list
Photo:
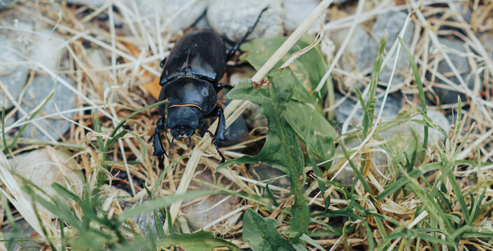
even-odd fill
[(290, 70), (283, 69), (271, 73), (269, 81), (271, 82), (269, 90), (264, 88), (257, 90), (252, 88), (251, 79), (244, 79), (227, 94), (227, 98), (251, 100), (260, 105), (259, 113), (264, 114), (269, 121), (269, 135), (262, 151), (255, 156), (245, 155), (229, 160), (219, 165), (216, 170), (234, 164), (262, 161), (285, 172), (290, 177), (291, 192), (296, 196), (292, 206), (290, 232), (299, 237), (307, 231), (310, 223), (310, 212), (303, 197), (300, 181), (300, 177), (304, 175), (304, 159), (294, 132), (282, 118), (286, 104), (291, 98), (294, 79), (290, 75)]

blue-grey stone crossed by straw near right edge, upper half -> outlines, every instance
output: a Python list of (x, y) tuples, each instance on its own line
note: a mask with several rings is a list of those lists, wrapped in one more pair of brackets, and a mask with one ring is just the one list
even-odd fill
[[(471, 67), (469, 66), (467, 57), (464, 55), (466, 53), (464, 49), (464, 42), (462, 42), (461, 40), (450, 38), (439, 38), (439, 41), (444, 47), (443, 50), (447, 52), (455, 68), (457, 68), (457, 70), (459, 71), (460, 76), (462, 77), (462, 79), (464, 79), (464, 82), (466, 82), (469, 89), (472, 90), (474, 87), (474, 75), (471, 75)], [(450, 66), (448, 66), (448, 63), (445, 60), (442, 60), (440, 63), (438, 63), (437, 71), (438, 73), (441, 73), (441, 75), (450, 76), (448, 77), (448, 79), (460, 86), (459, 79), (457, 79), (457, 77), (455, 77), (455, 75), (452, 73), (452, 69), (450, 69)], [(427, 78), (428, 77), (431, 77), (431, 75), (427, 75)], [(441, 79), (436, 79), (436, 82), (445, 84), (445, 82), (443, 82)], [(466, 96), (463, 93), (459, 93), (457, 91), (452, 91), (449, 89), (442, 89), (438, 86), (434, 86), (433, 89), (438, 95), (438, 98), (440, 98), (441, 104), (456, 103), (457, 96), (460, 96), (461, 100), (463, 101), (466, 100)]]

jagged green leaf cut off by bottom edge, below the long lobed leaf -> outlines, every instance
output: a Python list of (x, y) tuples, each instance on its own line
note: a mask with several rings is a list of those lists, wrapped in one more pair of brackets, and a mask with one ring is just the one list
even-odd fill
[(277, 220), (262, 218), (252, 208), (248, 208), (243, 214), (243, 240), (248, 241), (254, 251), (294, 250), (276, 230), (278, 225)]

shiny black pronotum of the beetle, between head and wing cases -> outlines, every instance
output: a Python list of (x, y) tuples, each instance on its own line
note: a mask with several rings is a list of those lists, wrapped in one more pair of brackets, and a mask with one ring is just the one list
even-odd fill
[[(215, 107), (217, 93), (210, 82), (195, 77), (178, 77), (161, 89), (159, 100), (165, 99), (168, 99), (168, 107), (195, 106), (208, 114)], [(161, 110), (159, 107), (160, 113)]]

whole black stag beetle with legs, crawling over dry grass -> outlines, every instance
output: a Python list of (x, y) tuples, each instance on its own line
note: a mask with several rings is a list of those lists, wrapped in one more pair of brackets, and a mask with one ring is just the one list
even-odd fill
[(227, 61), (252, 33), (267, 8), (262, 10), (255, 24), (228, 53), (224, 40), (219, 34), (215, 31), (199, 30), (180, 38), (169, 57), (161, 61), (163, 73), (159, 79), (159, 84), (162, 86), (159, 101), (167, 99), (168, 103), (159, 105), (159, 114), (162, 117), (157, 121), (154, 134), (150, 138), (154, 141), (154, 155), (159, 158), (160, 166), (163, 155), (166, 154), (159, 136), (160, 132), (168, 128), (171, 130), (173, 137), (171, 146), (174, 139), (181, 141), (188, 139), (190, 146), (190, 137), (199, 128), (202, 119), (215, 116), (219, 117), (219, 123), (213, 139), (217, 153), (221, 156), (221, 162), (224, 162), (219, 147), (224, 140), (226, 125), (222, 109), (215, 105), (217, 93), (223, 88), (232, 89), (233, 86), (220, 84), (219, 81), (226, 71)]

